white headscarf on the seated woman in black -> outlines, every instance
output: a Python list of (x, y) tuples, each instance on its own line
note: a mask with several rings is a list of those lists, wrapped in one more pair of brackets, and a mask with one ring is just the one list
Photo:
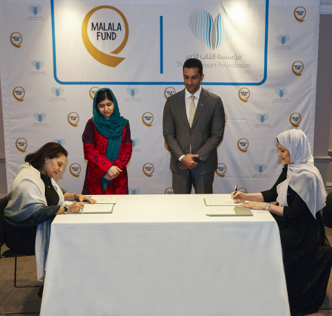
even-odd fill
[(316, 212), (325, 206), (326, 190), (320, 171), (313, 165), (310, 144), (306, 134), (300, 129), (288, 129), (277, 136), (278, 142), (288, 149), (291, 163), (288, 165), (287, 178), (277, 186), (277, 202), (287, 204), (288, 185), (308, 205), (316, 218)]

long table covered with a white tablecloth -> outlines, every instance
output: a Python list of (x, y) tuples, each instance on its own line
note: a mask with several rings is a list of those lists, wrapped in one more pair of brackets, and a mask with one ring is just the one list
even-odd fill
[(205, 216), (210, 197), (119, 196), (113, 214), (56, 216), (40, 315), (290, 315), (273, 216)]

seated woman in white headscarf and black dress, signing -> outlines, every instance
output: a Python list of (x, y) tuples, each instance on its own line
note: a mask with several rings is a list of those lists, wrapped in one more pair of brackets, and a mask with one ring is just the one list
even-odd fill
[[(232, 192), (231, 196), (244, 207), (267, 210), (275, 218), (291, 315), (316, 313), (323, 304), (332, 265), (332, 248), (319, 212), (325, 206), (326, 191), (305, 133), (291, 129), (277, 140), (278, 156), (285, 166), (272, 189)], [(276, 205), (270, 204), (275, 201)]]

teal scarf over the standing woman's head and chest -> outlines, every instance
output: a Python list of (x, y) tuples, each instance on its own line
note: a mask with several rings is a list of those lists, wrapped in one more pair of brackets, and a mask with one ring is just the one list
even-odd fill
[[(108, 90), (113, 97), (114, 103), (114, 112), (110, 116), (109, 120), (107, 120), (102, 113), (100, 113), (98, 106), (96, 104), (97, 95), (100, 91)], [(124, 127), (127, 125), (128, 120), (120, 116), (120, 111), (118, 107), (118, 101), (116, 100), (115, 95), (111, 89), (102, 88), (99, 89), (95, 93), (95, 97), (93, 99), (93, 117), (92, 122), (95, 124), (98, 133), (102, 134), (102, 136), (107, 138), (107, 149), (106, 149), (106, 158), (109, 159), (111, 162), (116, 161), (119, 156), (120, 152), (120, 145), (122, 139), (122, 131)], [(107, 186), (111, 180), (106, 180), (102, 177), (102, 188), (107, 189)]]

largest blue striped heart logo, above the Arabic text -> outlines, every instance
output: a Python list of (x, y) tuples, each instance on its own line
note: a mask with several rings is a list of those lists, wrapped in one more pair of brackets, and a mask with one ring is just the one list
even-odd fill
[[(236, 12), (234, 12), (236, 14)], [(213, 20), (209, 12), (198, 9), (192, 11), (188, 26), (196, 39), (208, 48), (216, 49), (232, 38), (237, 30), (238, 20), (230, 12), (220, 12)]]

